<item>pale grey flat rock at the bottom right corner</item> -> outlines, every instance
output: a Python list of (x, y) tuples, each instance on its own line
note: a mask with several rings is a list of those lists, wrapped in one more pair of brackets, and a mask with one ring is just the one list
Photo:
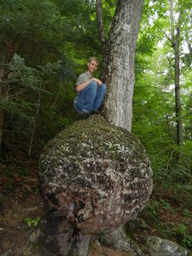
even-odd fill
[(173, 241), (161, 239), (157, 236), (149, 236), (147, 239), (148, 252), (151, 256), (187, 256), (185, 248)]

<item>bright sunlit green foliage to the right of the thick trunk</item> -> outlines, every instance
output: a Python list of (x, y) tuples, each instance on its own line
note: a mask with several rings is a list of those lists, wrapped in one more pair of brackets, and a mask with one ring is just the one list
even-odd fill
[[(177, 8), (178, 5), (175, 5), (175, 10)], [(183, 13), (188, 13), (189, 9), (189, 4), (186, 1), (182, 7)], [(168, 1), (144, 3), (142, 26), (137, 42), (133, 132), (141, 138), (148, 154), (150, 154), (154, 175), (157, 174), (160, 177), (160, 172), (164, 172), (164, 170), (167, 172), (168, 166), (168, 169), (172, 170), (174, 178), (179, 179), (183, 175), (179, 174), (181, 172), (179, 170), (186, 171), (186, 166), (184, 163), (178, 164), (177, 162), (179, 149), (177, 148), (177, 133), (174, 132), (177, 131), (174, 93), (175, 71), (169, 10), (170, 3)], [(179, 16), (177, 11), (176, 14), (175, 19)], [(190, 22), (182, 19), (180, 21), (180, 85), (183, 101), (181, 110), (184, 116), (183, 127), (185, 127), (186, 124), (187, 126), (191, 124), (188, 115), (190, 112), (187, 110), (188, 114), (186, 115), (185, 108), (185, 102), (189, 101), (191, 94), (191, 84), (188, 79), (190, 76), (189, 62), (186, 61), (189, 54), (186, 53), (186, 47), (184, 47), (186, 23), (190, 24)], [(190, 33), (191, 28), (190, 26), (187, 27)], [(190, 145), (189, 150), (189, 137), (185, 133), (185, 129), (183, 131), (183, 159), (185, 163), (189, 164), (191, 162), (189, 151), (191, 151), (192, 145)], [(187, 144), (188, 146), (186, 146)], [(190, 167), (187, 167), (187, 170), (190, 172)]]

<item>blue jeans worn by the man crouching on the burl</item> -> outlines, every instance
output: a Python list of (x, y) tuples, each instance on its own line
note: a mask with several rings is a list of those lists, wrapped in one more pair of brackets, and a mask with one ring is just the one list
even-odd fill
[(97, 110), (102, 105), (106, 94), (106, 86), (99, 86), (95, 81), (90, 82), (84, 90), (81, 90), (74, 100), (74, 107), (78, 112), (91, 112)]

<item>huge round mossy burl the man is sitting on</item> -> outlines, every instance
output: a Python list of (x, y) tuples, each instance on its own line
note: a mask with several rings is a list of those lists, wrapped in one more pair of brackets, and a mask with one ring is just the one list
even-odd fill
[(101, 115), (50, 140), (39, 177), (49, 205), (83, 236), (111, 232), (136, 218), (152, 190), (150, 162), (137, 137)]

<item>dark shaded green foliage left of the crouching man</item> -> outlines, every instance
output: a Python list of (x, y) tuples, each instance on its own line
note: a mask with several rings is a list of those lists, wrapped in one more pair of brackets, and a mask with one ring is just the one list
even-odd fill
[(12, 131), (29, 137), (35, 120), (35, 136), (46, 142), (76, 118), (75, 80), (87, 58), (100, 52), (94, 3), (3, 0), (0, 6), (0, 67), (11, 71), (2, 82), (9, 100), (0, 99), (5, 137)]

